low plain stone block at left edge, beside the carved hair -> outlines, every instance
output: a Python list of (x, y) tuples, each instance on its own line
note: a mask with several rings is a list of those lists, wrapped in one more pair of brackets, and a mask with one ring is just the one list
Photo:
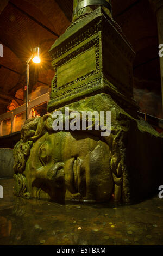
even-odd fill
[(0, 148), (0, 178), (13, 177), (13, 163), (13, 149)]

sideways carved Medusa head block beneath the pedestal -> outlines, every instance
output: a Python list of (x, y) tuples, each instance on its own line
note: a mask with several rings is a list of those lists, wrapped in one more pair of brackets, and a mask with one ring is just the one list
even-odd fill
[(36, 123), (35, 119), (29, 121), (14, 149), (17, 195), (107, 201), (114, 194), (115, 200), (130, 201), (156, 191), (163, 182), (158, 132), (144, 120), (131, 117), (107, 94), (67, 106), (79, 112), (91, 111), (92, 106), (92, 111), (111, 111), (111, 135), (55, 132), (52, 114), (47, 114), (37, 118), (35, 135), (27, 140), (23, 130)]

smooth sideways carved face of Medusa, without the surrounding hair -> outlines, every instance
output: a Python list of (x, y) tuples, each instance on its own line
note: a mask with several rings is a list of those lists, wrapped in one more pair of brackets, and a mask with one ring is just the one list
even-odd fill
[(86, 133), (48, 132), (30, 150), (27, 191), (36, 198), (109, 200), (113, 188), (108, 145)]

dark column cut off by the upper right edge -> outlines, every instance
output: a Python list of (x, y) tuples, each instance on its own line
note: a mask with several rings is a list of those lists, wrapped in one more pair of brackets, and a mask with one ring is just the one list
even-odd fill
[[(159, 44), (163, 44), (163, 0), (149, 0), (151, 2), (158, 23)], [(158, 48), (159, 51), (159, 48)], [(163, 57), (160, 57), (161, 88), (162, 88), (162, 109), (163, 109)]]

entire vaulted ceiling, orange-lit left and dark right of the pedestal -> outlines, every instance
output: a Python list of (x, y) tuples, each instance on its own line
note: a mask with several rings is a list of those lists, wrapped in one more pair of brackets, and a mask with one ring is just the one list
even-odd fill
[[(160, 101), (158, 33), (156, 17), (148, 0), (112, 0), (112, 8), (115, 21), (136, 52), (136, 100), (142, 99), (142, 94), (145, 96), (146, 93), (147, 97), (147, 93), (152, 92)], [(23, 103), (26, 60), (30, 49), (35, 46), (40, 46), (43, 62), (37, 70), (33, 67), (31, 92), (37, 87), (42, 87), (42, 92), (49, 90), (54, 71), (48, 50), (70, 25), (72, 11), (73, 0), (1, 0), (0, 43), (4, 47), (4, 57), (0, 57), (0, 114), (10, 109), (11, 102), (14, 107)], [(152, 108), (149, 102), (140, 100), (139, 104), (142, 111), (151, 111), (151, 114), (161, 117), (158, 105), (156, 113), (152, 112), (156, 102), (152, 102)]]

